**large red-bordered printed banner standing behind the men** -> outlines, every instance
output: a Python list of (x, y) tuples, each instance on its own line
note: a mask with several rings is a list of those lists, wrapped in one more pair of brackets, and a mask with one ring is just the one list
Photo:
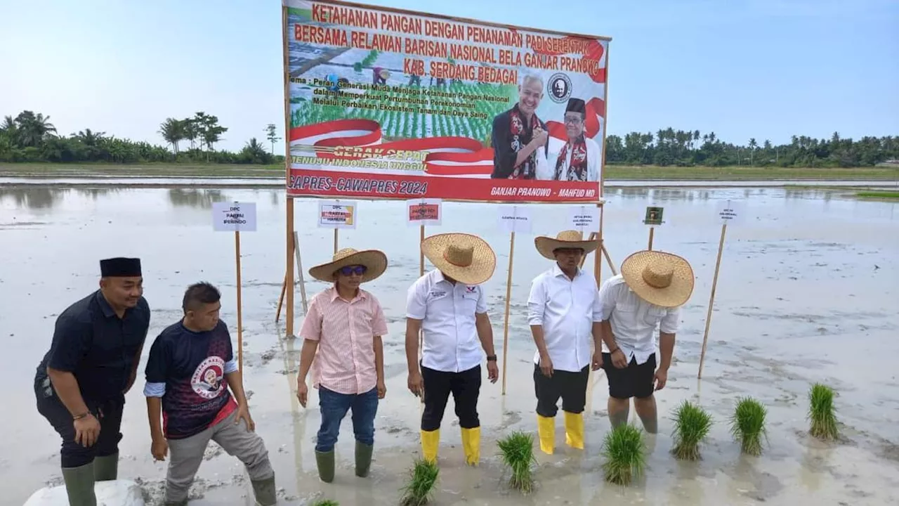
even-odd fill
[(284, 5), (289, 195), (600, 199), (608, 39)]

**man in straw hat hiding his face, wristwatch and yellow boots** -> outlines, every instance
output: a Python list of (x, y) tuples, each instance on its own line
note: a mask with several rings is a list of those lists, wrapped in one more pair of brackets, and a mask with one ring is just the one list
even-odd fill
[[(496, 255), (484, 239), (463, 233), (424, 239), (422, 251), (436, 268), (409, 287), (405, 356), (409, 390), (422, 396), (424, 402), (423, 457), (437, 461), (441, 420), (452, 393), (466, 463), (477, 465), (481, 447), (477, 397), (485, 353), (487, 378), (496, 383), (499, 377), (494, 332), (480, 286), (493, 276)], [(421, 363), (419, 330), (423, 334)]]

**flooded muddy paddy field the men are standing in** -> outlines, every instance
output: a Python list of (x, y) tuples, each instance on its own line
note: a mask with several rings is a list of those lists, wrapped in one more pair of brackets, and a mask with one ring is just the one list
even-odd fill
[[(899, 204), (844, 198), (844, 191), (814, 188), (616, 187), (607, 192), (604, 234), (619, 263), (645, 248), (640, 222), (645, 206), (662, 205), (667, 221), (655, 230), (654, 248), (688, 258), (697, 276), (682, 312), (668, 386), (658, 394), (660, 433), (643, 478), (629, 487), (605, 484), (601, 439), (609, 429), (607, 384), (594, 374), (586, 416), (586, 448), (570, 450), (557, 429), (554, 456), (537, 453), (538, 488), (510, 492), (495, 439), (513, 429), (536, 432), (531, 381), (533, 344), (525, 302), (530, 279), (550, 267), (518, 234), (512, 279), (507, 393), (500, 384), (481, 391), (482, 465), (464, 465), (458, 425), (448, 408), (441, 431), (437, 505), (611, 504), (879, 505), (899, 501)], [(723, 199), (743, 200), (747, 220), (728, 227), (717, 285), (703, 379), (697, 380), (708, 295)], [(0, 503), (21, 505), (47, 483), (61, 483), (59, 441), (35, 409), (32, 378), (49, 347), (53, 324), (68, 304), (97, 286), (98, 260), (137, 256), (145, 296), (153, 310), (149, 340), (181, 316), (186, 285), (199, 280), (223, 291), (222, 317), (236, 339), (234, 237), (212, 230), (211, 203), (256, 202), (259, 230), (242, 235), (245, 387), (251, 411), (276, 471), (283, 504), (328, 498), (343, 505), (396, 504), (418, 455), (420, 406), (405, 388), (405, 289), (418, 276), (418, 230), (403, 220), (403, 203), (361, 202), (357, 230), (342, 230), (342, 247), (380, 248), (387, 273), (367, 286), (387, 314), (387, 399), (378, 407), (375, 462), (369, 479), (352, 474), (352, 427), (344, 420), (337, 445), (338, 472), (319, 483), (314, 445), (319, 423), (315, 391), (310, 408), (294, 397), (299, 347), (284, 335), (275, 309), (284, 276), (285, 197), (280, 188), (127, 188), (23, 185), (0, 187), (0, 336), (4, 344), (7, 415), (0, 419)], [(316, 228), (315, 201), (299, 200), (296, 228), (304, 268), (332, 255), (332, 230)], [(444, 204), (441, 227), (427, 233), (467, 231), (497, 253), (486, 284), (494, 338), (502, 350), (509, 236), (496, 225), (496, 206)], [(535, 234), (565, 228), (564, 206), (533, 206)], [(592, 265), (592, 258), (588, 260)], [(610, 276), (603, 268), (603, 278)], [(307, 281), (311, 296), (325, 285)], [(297, 329), (302, 309), (297, 290)], [(501, 358), (502, 360), (502, 358)], [(502, 364), (502, 362), (501, 362)], [(138, 376), (139, 378), (140, 376)], [(840, 441), (807, 436), (809, 386), (834, 387)], [(138, 479), (150, 503), (161, 497), (165, 465), (150, 456), (143, 381), (129, 392), (120, 443), (120, 476)], [(769, 410), (768, 444), (760, 457), (741, 456), (728, 417), (736, 398), (752, 395)], [(699, 462), (673, 459), (669, 417), (684, 399), (714, 417)], [(632, 417), (633, 415), (633, 410)], [(560, 422), (561, 423), (561, 422)], [(209, 448), (194, 484), (191, 505), (248, 503), (242, 466), (221, 448)]]

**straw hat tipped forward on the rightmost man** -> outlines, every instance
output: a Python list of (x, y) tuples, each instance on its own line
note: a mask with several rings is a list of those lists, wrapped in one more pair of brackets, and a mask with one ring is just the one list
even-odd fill
[(693, 267), (671, 253), (637, 251), (621, 263), (621, 276), (638, 297), (657, 306), (677, 307), (693, 294)]

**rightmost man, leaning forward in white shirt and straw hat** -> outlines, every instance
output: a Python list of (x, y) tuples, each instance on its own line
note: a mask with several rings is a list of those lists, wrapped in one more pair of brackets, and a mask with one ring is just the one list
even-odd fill
[[(638, 251), (621, 264), (621, 274), (602, 284), (602, 366), (609, 379), (612, 427), (628, 422), (630, 398), (646, 432), (658, 432), (654, 391), (668, 381), (681, 305), (693, 293), (693, 269), (684, 258), (662, 251)], [(661, 359), (656, 369), (655, 328)]]

